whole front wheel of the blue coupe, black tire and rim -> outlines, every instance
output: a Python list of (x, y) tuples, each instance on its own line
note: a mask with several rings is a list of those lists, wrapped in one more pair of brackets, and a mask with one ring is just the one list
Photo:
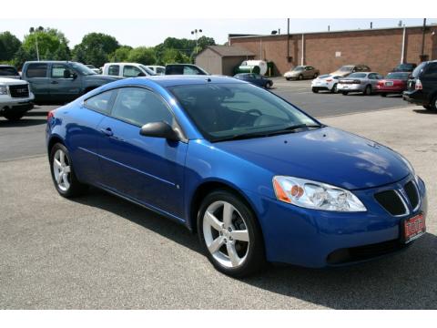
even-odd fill
[[(225, 208), (229, 220), (224, 220)], [(248, 276), (266, 265), (258, 220), (233, 192), (216, 190), (205, 197), (198, 210), (198, 237), (212, 265), (231, 277)], [(233, 256), (229, 256), (229, 250)]]

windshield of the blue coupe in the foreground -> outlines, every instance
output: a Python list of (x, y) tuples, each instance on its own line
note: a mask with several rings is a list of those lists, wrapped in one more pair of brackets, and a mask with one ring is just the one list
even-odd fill
[(249, 84), (169, 87), (199, 131), (210, 141), (291, 133), (320, 124), (269, 91)]

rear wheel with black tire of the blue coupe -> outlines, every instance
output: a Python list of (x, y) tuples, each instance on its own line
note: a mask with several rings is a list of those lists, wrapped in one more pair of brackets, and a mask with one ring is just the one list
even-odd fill
[(86, 191), (86, 185), (80, 183), (76, 178), (70, 155), (63, 144), (56, 143), (50, 149), (49, 162), (52, 180), (59, 195), (72, 198), (80, 196)]

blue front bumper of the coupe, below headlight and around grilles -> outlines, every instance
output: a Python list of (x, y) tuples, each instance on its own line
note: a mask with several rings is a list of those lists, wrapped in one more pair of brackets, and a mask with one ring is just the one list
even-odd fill
[[(422, 200), (419, 208), (403, 217), (391, 216), (374, 199), (374, 194), (391, 188), (399, 189), (411, 179), (409, 176), (391, 186), (353, 191), (366, 206), (366, 212), (302, 209), (279, 200), (257, 199), (251, 195), (251, 200), (256, 200), (268, 261), (322, 268), (338, 265), (338, 259), (332, 257), (338, 257), (340, 250), (354, 249), (362, 253), (362, 249), (388, 244), (391, 251), (386, 252), (400, 251), (404, 248), (401, 244), (402, 220), (420, 212), (426, 216), (425, 186), (421, 180), (418, 185)], [(396, 245), (399, 247), (393, 247)], [(390, 250), (390, 247), (384, 250)], [(368, 258), (351, 259), (341, 265), (367, 261), (380, 255), (381, 252), (375, 252)]]

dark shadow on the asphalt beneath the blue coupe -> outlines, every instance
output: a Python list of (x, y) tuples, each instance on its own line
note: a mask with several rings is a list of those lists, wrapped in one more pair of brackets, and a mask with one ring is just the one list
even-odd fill
[[(180, 224), (105, 191), (93, 188), (75, 201), (117, 214), (202, 253), (197, 236)], [(380, 260), (320, 270), (269, 265), (239, 282), (333, 309), (435, 309), (436, 250), (437, 237), (426, 233), (406, 251)]]

